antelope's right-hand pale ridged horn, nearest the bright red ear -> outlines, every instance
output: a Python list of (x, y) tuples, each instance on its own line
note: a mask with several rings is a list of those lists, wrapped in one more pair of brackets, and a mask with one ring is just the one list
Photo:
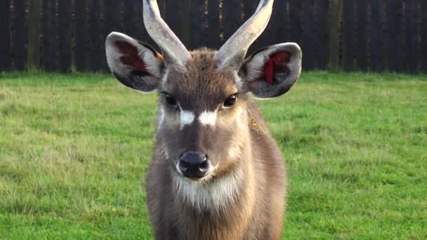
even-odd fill
[(261, 0), (254, 15), (251, 16), (237, 32), (218, 50), (215, 57), (218, 67), (225, 65), (240, 67), (249, 46), (254, 43), (267, 27), (272, 12), (273, 0)]

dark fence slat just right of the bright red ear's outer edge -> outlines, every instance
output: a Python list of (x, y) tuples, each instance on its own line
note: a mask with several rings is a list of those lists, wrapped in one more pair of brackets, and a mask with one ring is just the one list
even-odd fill
[(304, 0), (303, 10), (303, 69), (311, 70), (315, 68), (315, 22), (314, 18), (314, 2), (313, 0)]

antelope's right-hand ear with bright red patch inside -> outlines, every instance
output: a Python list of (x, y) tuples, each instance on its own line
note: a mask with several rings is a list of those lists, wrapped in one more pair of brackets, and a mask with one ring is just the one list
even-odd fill
[(274, 98), (295, 84), (301, 73), (302, 57), (298, 44), (268, 46), (247, 58), (239, 75), (257, 98)]

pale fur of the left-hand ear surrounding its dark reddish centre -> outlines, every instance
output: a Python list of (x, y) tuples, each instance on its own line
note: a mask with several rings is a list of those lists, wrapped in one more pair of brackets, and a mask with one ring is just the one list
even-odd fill
[[(121, 57), (126, 55), (122, 53), (116, 45), (119, 41), (130, 44), (136, 48), (138, 52), (138, 58), (142, 60), (144, 65), (144, 72), (147, 72), (147, 75), (133, 76), (133, 71), (138, 69), (135, 69), (135, 67), (132, 65), (126, 65), (121, 61)], [(107, 55), (107, 64), (108, 67), (110, 67), (111, 72), (126, 86), (134, 88), (133, 84), (130, 83), (131, 81), (135, 80), (140, 82), (144, 81), (145, 84), (148, 83), (148, 85), (152, 85), (162, 78), (163, 62), (159, 59), (159, 54), (150, 49), (149, 46), (140, 44), (138, 41), (136, 41), (136, 39), (133, 39), (126, 34), (121, 34), (119, 32), (110, 33), (105, 40), (105, 53)], [(139, 89), (135, 87), (134, 89), (143, 92), (154, 90), (152, 87), (147, 89)]]

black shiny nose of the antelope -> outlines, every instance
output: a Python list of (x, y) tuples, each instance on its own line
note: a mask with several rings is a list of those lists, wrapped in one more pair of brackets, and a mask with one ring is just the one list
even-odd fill
[(178, 168), (187, 178), (203, 178), (209, 170), (208, 156), (201, 152), (183, 152)]

